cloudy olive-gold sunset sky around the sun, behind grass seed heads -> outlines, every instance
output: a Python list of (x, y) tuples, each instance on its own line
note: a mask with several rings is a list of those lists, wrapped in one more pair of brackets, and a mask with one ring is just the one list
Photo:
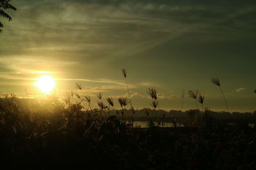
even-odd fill
[[(204, 106), (227, 111), (256, 110), (256, 3), (250, 0), (35, 1), (13, 0), (17, 11), (0, 17), (0, 92), (42, 96), (35, 78), (56, 79), (56, 93), (98, 92), (128, 96), (134, 108), (150, 108), (148, 87), (159, 107), (195, 109), (189, 89), (205, 95)], [(27, 93), (25, 92), (25, 89)], [(96, 106), (96, 104), (95, 104)]]

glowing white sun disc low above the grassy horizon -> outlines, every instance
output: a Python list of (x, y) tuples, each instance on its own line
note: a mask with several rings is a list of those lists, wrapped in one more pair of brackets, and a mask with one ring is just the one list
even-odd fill
[(36, 80), (35, 86), (45, 94), (51, 94), (52, 90), (55, 88), (56, 83), (51, 76), (40, 76), (40, 78), (37, 78)]

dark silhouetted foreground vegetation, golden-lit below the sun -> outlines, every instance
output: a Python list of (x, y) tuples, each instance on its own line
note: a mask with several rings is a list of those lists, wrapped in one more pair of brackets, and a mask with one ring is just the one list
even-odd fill
[(2, 98), (0, 164), (10, 169), (256, 169), (256, 128), (246, 119), (227, 124), (209, 112), (196, 117), (192, 110), (180, 113), (185, 127), (178, 124), (182, 117), (174, 116), (174, 127), (164, 127), (145, 111), (148, 127), (138, 128), (115, 112), (86, 111), (56, 98), (26, 104)]

